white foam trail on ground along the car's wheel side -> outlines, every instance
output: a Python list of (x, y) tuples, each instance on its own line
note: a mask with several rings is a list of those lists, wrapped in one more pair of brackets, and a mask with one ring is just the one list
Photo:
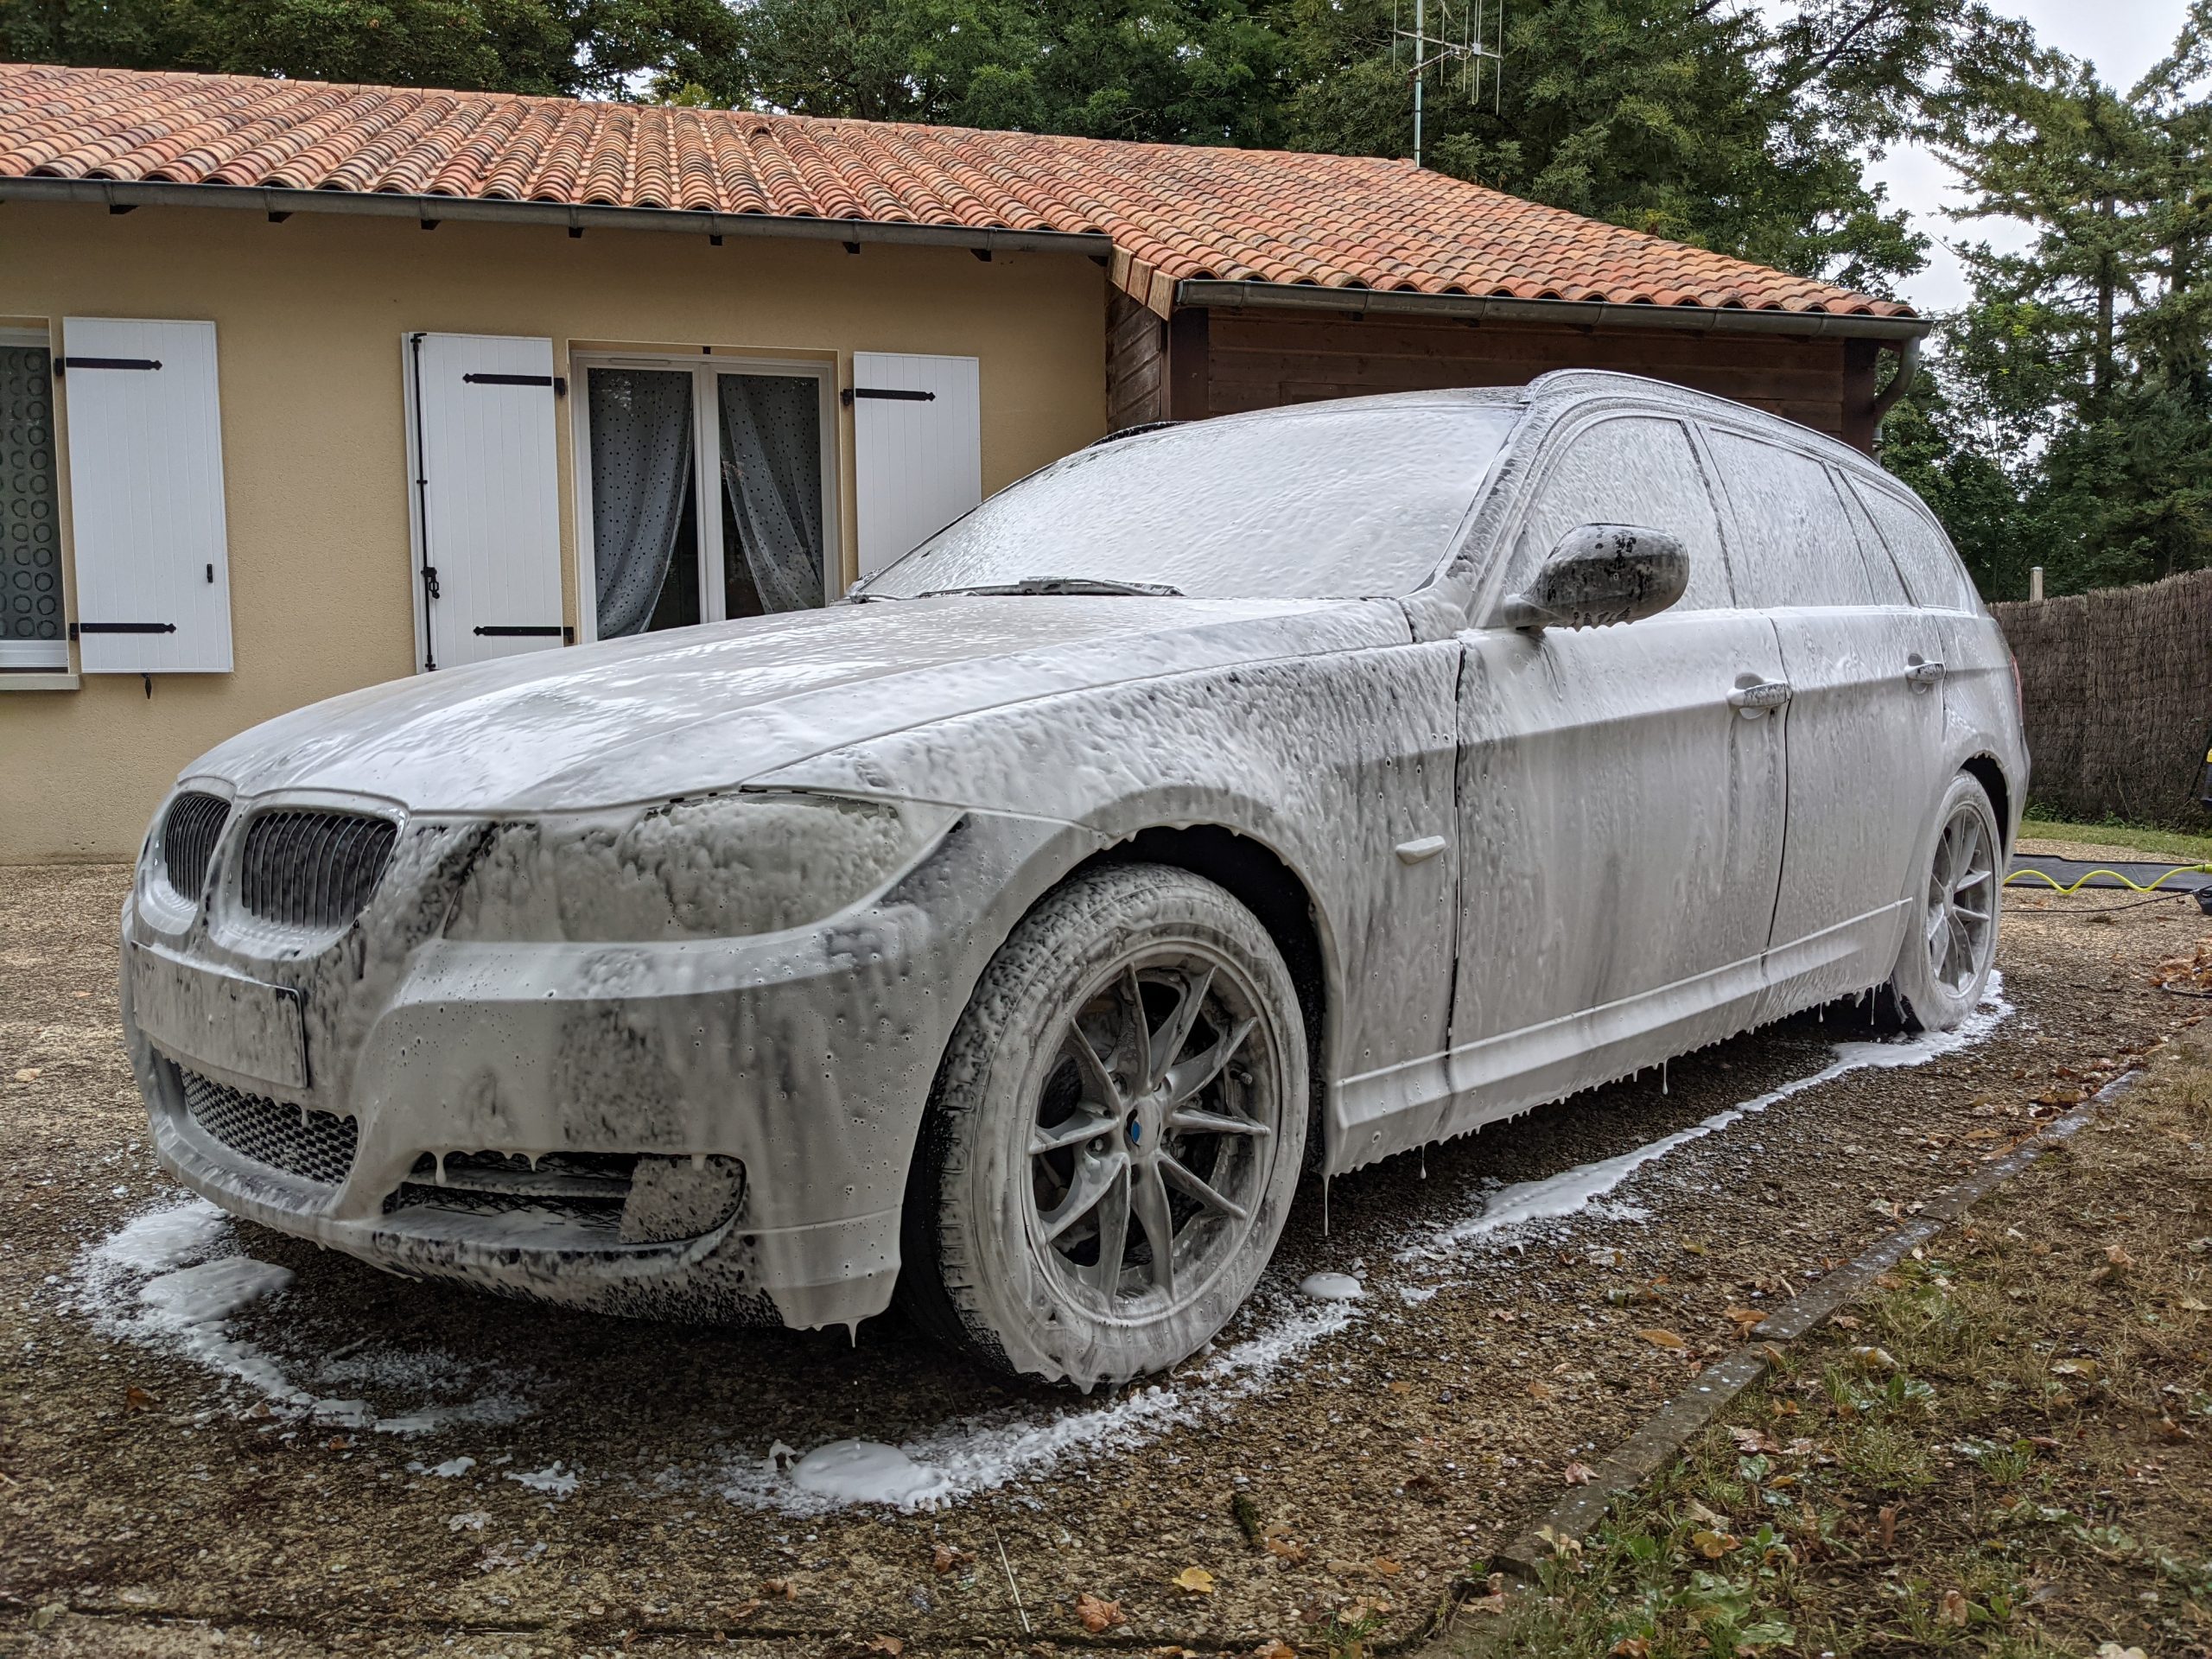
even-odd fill
[[(1641, 1221), (1641, 1210), (1610, 1208), (1606, 1199), (1646, 1166), (1690, 1141), (1763, 1113), (1809, 1088), (1832, 1084), (1854, 1071), (1924, 1066), (1931, 1060), (1986, 1042), (2013, 1015), (2002, 995), (2002, 978), (1989, 975), (1989, 991), (1955, 1031), (1922, 1033), (1889, 1042), (1838, 1042), (1820, 1071), (1736, 1102), (1690, 1128), (1621, 1152), (1577, 1164), (1540, 1181), (1498, 1188), (1473, 1214), (1422, 1228), (1394, 1252), (1394, 1261), (1431, 1274), (1469, 1250), (1515, 1241), (1531, 1228), (1564, 1223), (1593, 1212)], [(1402, 1285), (1407, 1305), (1425, 1303), (1451, 1281)], [(1349, 1294), (1347, 1294), (1349, 1290)], [(759, 1462), (737, 1462), (726, 1471), (721, 1493), (732, 1502), (790, 1515), (818, 1515), (852, 1504), (891, 1509), (942, 1509), (962, 1498), (998, 1491), (1055, 1464), (1082, 1462), (1099, 1453), (1137, 1451), (1170, 1429), (1190, 1427), (1234, 1411), (1237, 1402), (1267, 1383), (1283, 1365), (1301, 1358), (1325, 1336), (1360, 1318), (1358, 1281), (1349, 1274), (1312, 1274), (1301, 1296), (1263, 1281), (1254, 1298), (1256, 1329), (1170, 1383), (1135, 1387), (1104, 1400), (1044, 1418), (1018, 1409), (969, 1418), (931, 1429), (898, 1447), (872, 1440), (836, 1440), (805, 1458), (781, 1442)]]

